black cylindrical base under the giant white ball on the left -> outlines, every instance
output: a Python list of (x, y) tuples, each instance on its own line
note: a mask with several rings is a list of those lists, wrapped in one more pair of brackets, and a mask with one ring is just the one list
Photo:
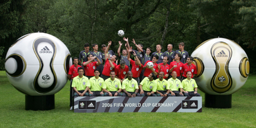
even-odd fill
[(26, 110), (51, 110), (55, 109), (54, 94), (47, 96), (30, 96), (25, 97)]

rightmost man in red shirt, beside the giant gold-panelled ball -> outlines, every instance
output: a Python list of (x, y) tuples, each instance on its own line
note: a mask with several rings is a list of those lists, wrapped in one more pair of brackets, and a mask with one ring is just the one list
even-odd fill
[(193, 62), (193, 57), (188, 57), (187, 60), (186, 60), (187, 63), (183, 64), (183, 67), (182, 67), (182, 72), (183, 72), (183, 77), (181, 79), (181, 81), (183, 79), (186, 79), (187, 78), (187, 72), (188, 71), (191, 71), (191, 78), (193, 78), (195, 76), (195, 74), (197, 74), (197, 70), (196, 70), (196, 66), (192, 63)]

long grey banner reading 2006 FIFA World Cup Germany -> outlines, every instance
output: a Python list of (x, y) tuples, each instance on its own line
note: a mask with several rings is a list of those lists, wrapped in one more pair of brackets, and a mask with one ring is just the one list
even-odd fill
[(79, 96), (74, 112), (202, 112), (202, 97)]

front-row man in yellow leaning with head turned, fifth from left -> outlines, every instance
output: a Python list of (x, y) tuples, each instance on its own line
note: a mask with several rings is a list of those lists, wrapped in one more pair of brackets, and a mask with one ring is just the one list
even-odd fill
[(139, 84), (139, 89), (141, 89), (141, 92), (137, 93), (138, 96), (156, 96), (156, 82), (155, 82), (156, 76), (152, 72), (148, 77), (144, 78)]

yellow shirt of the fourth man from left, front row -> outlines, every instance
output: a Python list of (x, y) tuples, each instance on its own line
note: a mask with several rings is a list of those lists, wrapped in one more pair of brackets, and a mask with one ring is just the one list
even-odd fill
[(135, 79), (129, 80), (128, 78), (123, 80), (122, 89), (127, 92), (135, 92), (135, 89), (139, 89), (138, 82)]

